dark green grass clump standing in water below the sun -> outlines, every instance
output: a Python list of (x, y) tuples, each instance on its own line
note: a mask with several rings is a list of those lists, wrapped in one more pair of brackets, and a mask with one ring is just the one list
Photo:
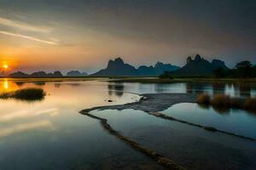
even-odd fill
[(41, 88), (25, 88), (16, 90), (15, 92), (8, 92), (0, 94), (0, 99), (20, 99), (20, 100), (41, 100), (44, 99), (45, 92)]

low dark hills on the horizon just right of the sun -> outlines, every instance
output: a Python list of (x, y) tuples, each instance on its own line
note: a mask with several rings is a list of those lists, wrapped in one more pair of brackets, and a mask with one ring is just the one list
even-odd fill
[(46, 73), (44, 71), (37, 71), (33, 72), (32, 74), (26, 74), (22, 71), (17, 71), (14, 73), (11, 73), (9, 77), (19, 77), (19, 78), (26, 78), (26, 77), (63, 77), (61, 74), (61, 71), (55, 71), (53, 73)]

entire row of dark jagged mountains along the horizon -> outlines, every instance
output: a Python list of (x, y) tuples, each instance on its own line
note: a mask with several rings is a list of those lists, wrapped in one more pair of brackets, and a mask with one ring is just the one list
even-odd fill
[[(219, 59), (212, 59), (208, 61), (203, 59), (199, 54), (195, 55), (195, 58), (187, 58), (187, 62), (183, 67), (176, 65), (164, 64), (158, 61), (154, 66), (141, 65), (138, 68), (133, 65), (126, 64), (123, 59), (116, 58), (110, 59), (105, 69), (97, 71), (91, 74), (91, 77), (158, 77), (161, 74), (167, 72), (173, 76), (209, 76), (213, 74), (218, 68), (229, 70), (224, 61)], [(69, 71), (68, 77), (84, 77), (88, 76), (86, 72)], [(26, 74), (21, 71), (11, 73), (9, 77), (63, 77), (60, 71), (53, 73), (46, 73), (44, 71), (33, 72), (32, 74)]]

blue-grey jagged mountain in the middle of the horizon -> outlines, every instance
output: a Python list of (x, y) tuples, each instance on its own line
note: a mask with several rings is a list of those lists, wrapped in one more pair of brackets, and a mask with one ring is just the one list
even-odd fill
[(176, 71), (176, 65), (163, 64), (157, 62), (154, 66), (141, 65), (136, 69), (132, 65), (125, 64), (121, 58), (110, 59), (106, 69), (97, 71), (90, 76), (93, 77), (154, 77), (159, 76), (164, 71)]

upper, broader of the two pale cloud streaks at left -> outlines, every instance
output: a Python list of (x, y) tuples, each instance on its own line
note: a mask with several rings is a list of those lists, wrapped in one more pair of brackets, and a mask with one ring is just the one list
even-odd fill
[(9, 20), (3, 17), (0, 17), (0, 24), (4, 26), (19, 28), (21, 30), (26, 30), (26, 31), (36, 31), (36, 32), (43, 32), (43, 33), (49, 33), (50, 31), (52, 31), (52, 29), (49, 27), (32, 26), (25, 22), (21, 22), (18, 20)]

